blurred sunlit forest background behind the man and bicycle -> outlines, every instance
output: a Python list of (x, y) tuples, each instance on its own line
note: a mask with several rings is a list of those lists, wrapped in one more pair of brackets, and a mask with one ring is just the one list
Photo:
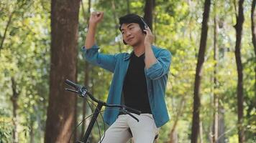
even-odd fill
[[(91, 11), (104, 11), (101, 52), (132, 51), (119, 17), (134, 13), (149, 24), (154, 44), (172, 53), (170, 122), (157, 142), (256, 142), (255, 0), (1, 0), (1, 143), (83, 137), (89, 120), (75, 127), (94, 105), (66, 92), (64, 80), (106, 102), (112, 77), (83, 60)], [(100, 116), (99, 129), (102, 137)], [(90, 142), (99, 137), (95, 125)]]

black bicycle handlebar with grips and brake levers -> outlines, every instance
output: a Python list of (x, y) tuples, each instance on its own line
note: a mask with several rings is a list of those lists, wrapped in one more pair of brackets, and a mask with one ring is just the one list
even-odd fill
[[(88, 94), (88, 96), (93, 100), (93, 102), (97, 102), (97, 103), (101, 103), (103, 104), (103, 106), (105, 107), (117, 107), (117, 108), (121, 108), (121, 112), (124, 112), (124, 114), (129, 114), (129, 116), (131, 116), (132, 118), (136, 119), (137, 122), (139, 122), (139, 119), (137, 119), (136, 117), (134, 117), (132, 113), (134, 114), (141, 114), (141, 112), (137, 109), (132, 109), (130, 107), (127, 107), (125, 105), (117, 105), (117, 104), (106, 104), (105, 102), (102, 102), (101, 100), (99, 99), (95, 99), (93, 97), (93, 95), (88, 92), (88, 89), (86, 89), (86, 87), (83, 87), (82, 85), (79, 85), (79, 84), (75, 84), (73, 82), (71, 82), (70, 80), (66, 79), (65, 80), (65, 83), (70, 85), (71, 87), (74, 87), (76, 90), (73, 90), (73, 89), (66, 89), (68, 90), (69, 92), (75, 92), (76, 94), (79, 94), (81, 97), (86, 97), (86, 94)], [(127, 111), (127, 109), (129, 111)]]

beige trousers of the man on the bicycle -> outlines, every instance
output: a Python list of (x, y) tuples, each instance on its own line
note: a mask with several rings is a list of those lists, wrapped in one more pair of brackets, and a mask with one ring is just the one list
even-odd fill
[[(121, 114), (116, 121), (106, 130), (103, 143), (126, 143), (131, 137), (134, 143), (154, 142), (159, 129), (155, 126), (152, 114), (133, 114), (140, 122), (128, 114)], [(131, 129), (132, 134), (129, 133)]]

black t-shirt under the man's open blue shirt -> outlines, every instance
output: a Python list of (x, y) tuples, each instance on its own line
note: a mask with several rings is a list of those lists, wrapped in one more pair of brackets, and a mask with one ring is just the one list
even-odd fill
[(151, 114), (145, 77), (145, 54), (137, 57), (132, 53), (124, 79), (124, 104), (127, 107)]

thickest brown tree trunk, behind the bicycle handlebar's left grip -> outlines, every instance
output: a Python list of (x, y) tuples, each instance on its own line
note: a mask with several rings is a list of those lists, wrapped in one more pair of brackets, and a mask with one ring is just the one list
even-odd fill
[(51, 1), (50, 97), (45, 142), (68, 142), (75, 124), (76, 95), (64, 81), (76, 82), (78, 10), (80, 1)]

